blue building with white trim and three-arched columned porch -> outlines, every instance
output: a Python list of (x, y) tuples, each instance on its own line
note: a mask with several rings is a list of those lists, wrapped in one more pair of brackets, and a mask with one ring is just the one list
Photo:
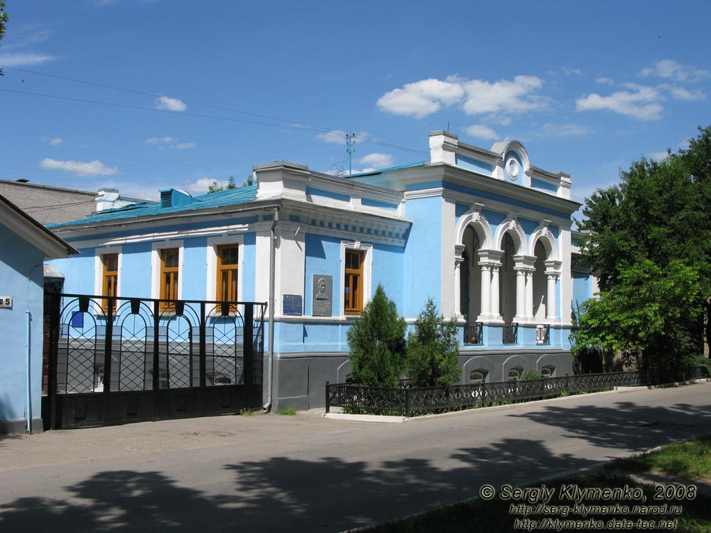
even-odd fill
[[(336, 177), (280, 161), (256, 184), (106, 210), (52, 226), (80, 251), (52, 262), (68, 293), (266, 301), (265, 402), (321, 407), (351, 368), (346, 333), (378, 284), (413, 323), (428, 297), (461, 331), (463, 382), (529, 368), (572, 374), (570, 176), (517, 141), (490, 150), (429, 134), (429, 161)], [(579, 237), (579, 236), (578, 236)]]

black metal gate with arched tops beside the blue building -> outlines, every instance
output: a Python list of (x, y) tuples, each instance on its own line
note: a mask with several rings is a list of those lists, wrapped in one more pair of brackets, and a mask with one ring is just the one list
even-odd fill
[(46, 429), (262, 404), (265, 303), (46, 293)]

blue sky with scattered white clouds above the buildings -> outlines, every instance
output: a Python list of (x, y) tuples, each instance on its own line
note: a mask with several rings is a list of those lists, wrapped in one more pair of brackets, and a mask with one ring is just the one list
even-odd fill
[[(496, 4), (496, 5), (494, 5)], [(204, 193), (286, 159), (427, 159), (428, 132), (570, 173), (572, 197), (711, 123), (709, 1), (7, 0), (0, 178)], [(64, 79), (63, 79), (64, 78)]]

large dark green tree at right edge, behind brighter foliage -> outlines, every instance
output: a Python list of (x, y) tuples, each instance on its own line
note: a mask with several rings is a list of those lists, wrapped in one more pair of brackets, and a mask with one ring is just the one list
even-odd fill
[[(699, 132), (686, 150), (677, 154), (668, 151), (662, 161), (641, 158), (632, 163), (629, 171), (620, 173), (618, 185), (597, 190), (587, 198), (585, 219), (579, 222), (580, 229), (591, 232), (583, 253), (599, 277), (602, 290), (600, 302), (590, 303), (582, 311), (596, 313), (604, 309), (617, 318), (637, 304), (647, 311), (652, 304), (673, 306), (675, 311), (664, 320), (654, 315), (656, 320), (646, 328), (633, 328), (634, 333), (630, 330), (627, 337), (623, 329), (616, 328), (619, 321), (609, 321), (609, 335), (603, 335), (604, 317), (597, 316), (595, 321), (592, 315), (581, 317), (580, 340), (606, 338), (609, 342), (602, 343), (606, 348), (617, 345), (621, 347), (618, 351), (626, 352), (631, 360), (661, 365), (669, 357), (683, 357), (690, 349), (690, 340), (702, 338), (702, 314), (711, 309), (711, 127), (699, 128)], [(679, 265), (690, 270), (682, 275)], [(667, 299), (663, 291), (650, 285), (651, 281), (642, 284), (641, 266), (653, 267), (664, 278), (658, 280), (660, 283), (683, 286), (684, 280), (695, 274), (696, 300), (687, 303)], [(635, 291), (641, 286), (648, 289), (646, 293)], [(674, 292), (673, 287), (670, 290)], [(624, 298), (617, 297), (620, 294), (630, 298), (629, 306)], [(652, 296), (658, 298), (656, 303), (649, 299)], [(593, 323), (595, 335), (585, 330)], [(706, 323), (708, 343), (711, 328)], [(677, 338), (678, 343), (669, 343), (670, 338)]]

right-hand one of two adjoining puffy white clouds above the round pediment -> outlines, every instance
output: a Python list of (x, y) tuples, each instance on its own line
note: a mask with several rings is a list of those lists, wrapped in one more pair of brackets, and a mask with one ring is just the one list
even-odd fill
[(466, 92), (464, 111), (467, 114), (521, 113), (540, 111), (548, 107), (548, 99), (531, 93), (542, 87), (536, 76), (516, 76), (513, 80), (461, 82)]

